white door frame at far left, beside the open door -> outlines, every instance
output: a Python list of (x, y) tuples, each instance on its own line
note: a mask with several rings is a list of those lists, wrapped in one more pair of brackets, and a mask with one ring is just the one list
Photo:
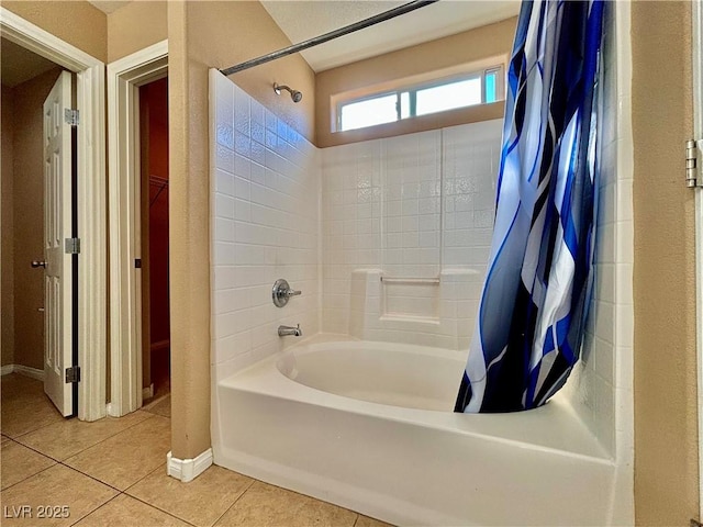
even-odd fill
[(107, 361), (105, 117), (101, 60), (0, 7), (2, 36), (72, 71), (78, 126), (78, 418), (104, 417)]

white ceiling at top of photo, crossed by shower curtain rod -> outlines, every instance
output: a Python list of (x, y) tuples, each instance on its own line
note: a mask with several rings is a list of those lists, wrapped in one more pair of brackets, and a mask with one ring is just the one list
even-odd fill
[[(230, 0), (237, 1), (237, 0)], [(393, 9), (397, 0), (263, 0), (261, 4), (293, 44)], [(91, 0), (105, 13), (129, 1)], [(310, 67), (324, 71), (403, 47), (515, 16), (520, 0), (440, 0), (301, 52)], [(276, 49), (271, 49), (275, 52)], [(252, 57), (254, 58), (254, 57)]]

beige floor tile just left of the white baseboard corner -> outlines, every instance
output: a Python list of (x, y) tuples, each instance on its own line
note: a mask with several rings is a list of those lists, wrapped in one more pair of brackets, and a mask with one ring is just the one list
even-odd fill
[(170, 431), (170, 419), (154, 415), (64, 462), (123, 491), (164, 464)]

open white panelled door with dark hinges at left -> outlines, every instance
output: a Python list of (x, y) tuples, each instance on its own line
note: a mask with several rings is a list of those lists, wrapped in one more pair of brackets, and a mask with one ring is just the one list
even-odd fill
[(70, 74), (63, 71), (44, 101), (44, 391), (67, 416), (74, 408), (72, 276), (66, 238), (71, 237), (71, 127), (64, 119), (71, 108)]

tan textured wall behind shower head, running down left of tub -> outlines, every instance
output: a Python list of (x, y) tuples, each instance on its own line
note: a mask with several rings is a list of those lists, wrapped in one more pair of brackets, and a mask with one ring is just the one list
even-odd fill
[[(210, 158), (208, 71), (290, 45), (259, 2), (168, 2), (171, 278), (171, 447), (186, 459), (210, 447)], [(314, 74), (299, 56), (234, 78), (309, 141)], [(304, 93), (300, 104), (275, 81)]]

